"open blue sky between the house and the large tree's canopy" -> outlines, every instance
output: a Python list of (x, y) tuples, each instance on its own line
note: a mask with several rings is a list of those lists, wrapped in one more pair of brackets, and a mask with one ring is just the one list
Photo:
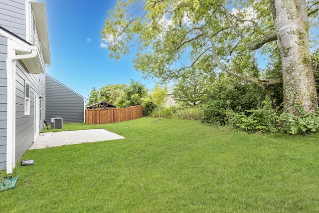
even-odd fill
[[(101, 29), (116, 0), (46, 0), (51, 66), (46, 73), (88, 98), (93, 87), (140, 81), (149, 89), (153, 79), (143, 79), (132, 64), (133, 54), (116, 61), (101, 47)], [(103, 45), (102, 45), (103, 46)]]

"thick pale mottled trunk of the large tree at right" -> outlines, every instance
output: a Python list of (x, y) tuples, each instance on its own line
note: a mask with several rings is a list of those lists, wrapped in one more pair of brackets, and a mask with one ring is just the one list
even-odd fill
[(306, 112), (318, 106), (309, 48), (305, 0), (270, 0), (282, 58), (285, 111), (298, 115), (296, 103)]

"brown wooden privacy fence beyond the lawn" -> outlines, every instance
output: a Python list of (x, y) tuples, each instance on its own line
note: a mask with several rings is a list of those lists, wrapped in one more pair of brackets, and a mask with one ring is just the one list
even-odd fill
[(143, 117), (141, 105), (128, 108), (113, 109), (86, 109), (86, 124), (109, 124), (121, 121), (130, 121)]

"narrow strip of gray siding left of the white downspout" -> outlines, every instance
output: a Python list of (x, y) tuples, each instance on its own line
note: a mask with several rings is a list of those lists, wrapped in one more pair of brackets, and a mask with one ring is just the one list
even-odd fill
[(7, 39), (0, 36), (0, 170), (6, 162), (6, 57)]

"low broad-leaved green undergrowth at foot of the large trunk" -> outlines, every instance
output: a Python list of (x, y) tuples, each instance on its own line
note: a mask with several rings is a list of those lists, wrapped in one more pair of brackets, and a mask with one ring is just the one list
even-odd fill
[(319, 129), (319, 112), (305, 112), (299, 108), (299, 116), (291, 113), (282, 113), (273, 108), (270, 99), (266, 99), (264, 106), (258, 109), (234, 112), (216, 110), (210, 106), (204, 110), (203, 123), (228, 125), (232, 128), (246, 132), (269, 132), (288, 134), (308, 134), (317, 132)]

